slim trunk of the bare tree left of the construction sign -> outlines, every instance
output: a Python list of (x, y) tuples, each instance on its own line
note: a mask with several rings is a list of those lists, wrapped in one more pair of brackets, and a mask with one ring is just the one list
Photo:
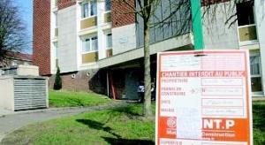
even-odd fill
[(152, 116), (151, 110), (151, 76), (150, 76), (150, 34), (149, 21), (144, 19), (144, 65), (145, 65), (145, 96), (143, 105), (143, 115)]

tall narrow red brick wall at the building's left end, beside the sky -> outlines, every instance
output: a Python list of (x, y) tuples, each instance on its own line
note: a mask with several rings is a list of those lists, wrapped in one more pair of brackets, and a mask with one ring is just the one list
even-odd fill
[(34, 0), (33, 64), (50, 74), (50, 1)]

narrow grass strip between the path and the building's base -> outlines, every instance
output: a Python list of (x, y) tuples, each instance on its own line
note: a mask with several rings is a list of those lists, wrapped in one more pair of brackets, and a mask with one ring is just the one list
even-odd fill
[(110, 102), (107, 96), (95, 93), (49, 90), (50, 107), (92, 106)]

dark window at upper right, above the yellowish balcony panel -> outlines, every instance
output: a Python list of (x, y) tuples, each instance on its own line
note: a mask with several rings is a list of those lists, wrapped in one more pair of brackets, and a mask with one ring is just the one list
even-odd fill
[(239, 26), (254, 24), (254, 9), (252, 2), (237, 4), (237, 16)]

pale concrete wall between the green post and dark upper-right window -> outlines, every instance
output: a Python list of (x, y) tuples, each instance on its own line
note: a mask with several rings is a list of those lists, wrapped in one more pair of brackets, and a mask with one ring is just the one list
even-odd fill
[[(232, 4), (232, 5), (231, 5)], [(202, 12), (208, 7), (202, 8)], [(206, 50), (235, 50), (239, 49), (237, 22), (234, 17), (225, 24), (225, 21), (236, 13), (235, 5), (231, 2), (213, 4), (206, 12), (203, 22), (203, 34)]]

